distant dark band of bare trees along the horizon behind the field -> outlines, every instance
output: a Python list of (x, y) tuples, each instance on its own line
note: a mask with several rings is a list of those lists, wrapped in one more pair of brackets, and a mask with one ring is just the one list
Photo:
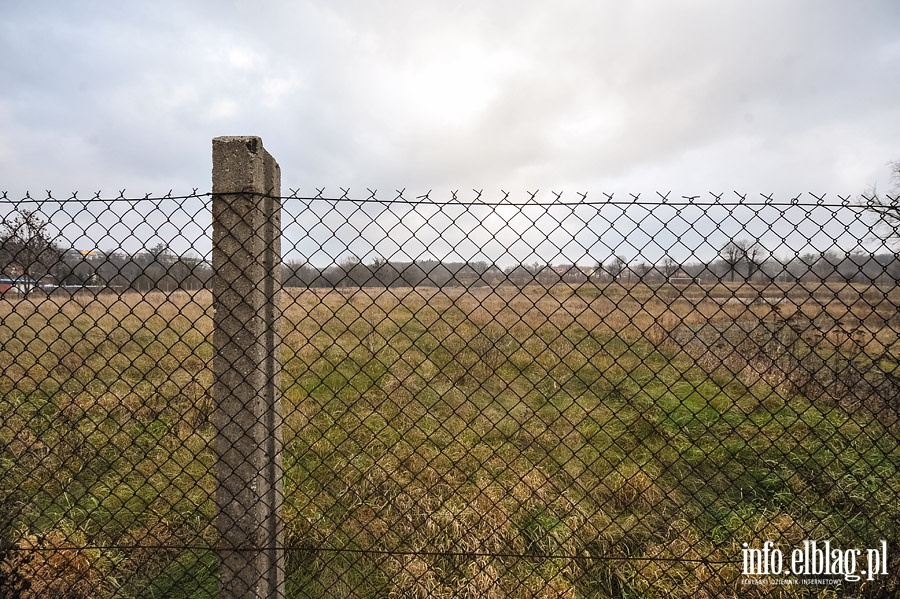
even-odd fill
[[(900, 160), (890, 163), (892, 190), (879, 194), (873, 187), (860, 195), (865, 209), (876, 217), (873, 230), (887, 247), (900, 243)], [(128, 254), (122, 251), (79, 251), (64, 248), (48, 234), (37, 212), (22, 210), (5, 218), (0, 229), (0, 278), (28, 280), (34, 286), (112, 289), (198, 290), (212, 280), (209, 262), (193, 253), (176, 254), (165, 244)], [(374, 257), (368, 263), (348, 255), (335, 264), (317, 267), (288, 261), (282, 267), (288, 287), (416, 287), (496, 286), (556, 283), (714, 283), (777, 281), (900, 281), (900, 256), (829, 250), (807, 252), (787, 259), (772, 256), (755, 240), (735, 239), (708, 262), (679, 261), (666, 256), (657, 263), (629, 261), (624, 256), (594, 260), (590, 265), (518, 264), (500, 268), (487, 261), (394, 261)]]

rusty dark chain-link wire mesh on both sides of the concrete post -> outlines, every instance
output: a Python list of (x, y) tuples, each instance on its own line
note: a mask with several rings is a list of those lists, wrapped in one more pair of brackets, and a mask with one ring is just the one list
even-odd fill
[[(287, 596), (898, 593), (898, 202), (670, 195), (281, 198)], [(219, 592), (210, 202), (0, 199), (0, 596)]]

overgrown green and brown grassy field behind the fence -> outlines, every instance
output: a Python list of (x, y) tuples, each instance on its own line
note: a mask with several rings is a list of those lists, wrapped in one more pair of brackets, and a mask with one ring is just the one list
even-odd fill
[[(287, 289), (288, 594), (883, 596), (898, 306), (818, 283)], [(0, 576), (23, 596), (215, 595), (211, 329), (207, 292), (0, 300)], [(741, 584), (742, 543), (811, 539), (887, 540), (889, 575)]]

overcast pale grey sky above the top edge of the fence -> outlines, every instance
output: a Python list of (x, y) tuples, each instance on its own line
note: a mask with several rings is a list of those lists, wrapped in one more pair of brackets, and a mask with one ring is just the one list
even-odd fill
[(206, 191), (210, 140), (238, 134), (263, 138), (285, 193), (354, 197), (834, 197), (887, 187), (900, 158), (896, 0), (60, 0), (2, 15), (11, 195)]

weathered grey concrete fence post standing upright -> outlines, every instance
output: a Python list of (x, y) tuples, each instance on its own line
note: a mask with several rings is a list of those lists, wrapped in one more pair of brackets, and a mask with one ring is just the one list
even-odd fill
[(213, 139), (213, 400), (220, 596), (284, 596), (281, 172), (258, 137)]

